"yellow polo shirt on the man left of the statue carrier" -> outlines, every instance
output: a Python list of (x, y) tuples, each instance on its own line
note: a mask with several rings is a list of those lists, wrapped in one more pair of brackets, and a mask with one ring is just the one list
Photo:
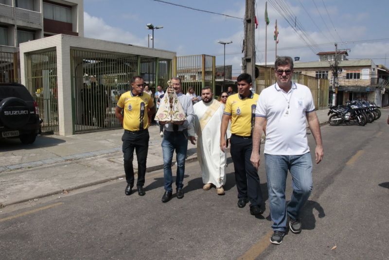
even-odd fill
[(154, 107), (154, 101), (148, 93), (134, 96), (132, 91), (123, 93), (118, 103), (124, 109), (123, 128), (129, 131), (144, 130), (149, 127), (147, 109)]

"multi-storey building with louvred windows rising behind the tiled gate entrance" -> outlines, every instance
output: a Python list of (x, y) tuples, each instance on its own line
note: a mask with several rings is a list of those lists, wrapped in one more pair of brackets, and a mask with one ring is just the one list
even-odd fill
[(56, 34), (84, 36), (83, 0), (0, 0), (2, 51)]

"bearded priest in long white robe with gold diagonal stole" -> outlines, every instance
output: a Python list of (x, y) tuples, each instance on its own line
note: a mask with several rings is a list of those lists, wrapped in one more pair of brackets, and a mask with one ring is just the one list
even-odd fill
[(226, 183), (226, 153), (220, 150), (219, 142), (223, 104), (213, 99), (210, 87), (204, 87), (201, 90), (201, 101), (193, 106), (193, 110), (195, 119), (188, 134), (192, 144), (195, 144), (195, 134), (197, 135), (197, 159), (201, 167), (203, 189), (209, 190), (215, 186), (217, 194), (223, 195), (223, 185)]

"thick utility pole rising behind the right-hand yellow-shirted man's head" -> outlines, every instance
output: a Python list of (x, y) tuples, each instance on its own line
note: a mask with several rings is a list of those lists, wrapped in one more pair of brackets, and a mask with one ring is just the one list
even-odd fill
[(251, 75), (252, 89), (255, 88), (255, 0), (246, 0), (245, 13), (245, 40), (244, 40), (244, 57), (242, 58), (243, 71)]

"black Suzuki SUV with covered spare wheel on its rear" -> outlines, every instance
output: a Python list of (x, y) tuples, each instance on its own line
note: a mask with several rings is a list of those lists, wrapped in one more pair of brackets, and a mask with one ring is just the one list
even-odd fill
[(0, 138), (19, 137), (32, 144), (40, 132), (38, 104), (26, 87), (0, 83)]

